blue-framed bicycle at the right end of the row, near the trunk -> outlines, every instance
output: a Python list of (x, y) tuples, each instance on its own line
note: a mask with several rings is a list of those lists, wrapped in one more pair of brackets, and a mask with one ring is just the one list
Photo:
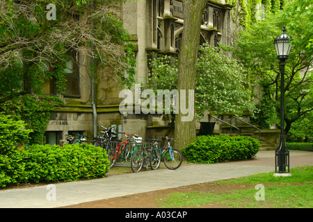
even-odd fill
[(163, 161), (168, 169), (177, 169), (182, 164), (182, 152), (177, 148), (172, 148), (170, 143), (175, 141), (173, 138), (162, 137), (162, 139), (167, 140), (167, 144), (165, 142), (164, 146), (159, 150), (160, 157), (164, 155)]

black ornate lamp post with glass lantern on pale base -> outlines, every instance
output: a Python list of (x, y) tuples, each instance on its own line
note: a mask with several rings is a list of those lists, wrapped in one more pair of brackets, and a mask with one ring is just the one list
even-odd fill
[[(289, 173), (289, 150), (284, 142), (284, 65), (289, 57), (291, 44), (290, 37), (285, 33), (286, 26), (282, 29), (282, 35), (274, 40), (277, 58), (280, 60), (280, 146), (275, 151), (274, 176), (291, 176)], [(287, 169), (287, 170), (286, 170)]]

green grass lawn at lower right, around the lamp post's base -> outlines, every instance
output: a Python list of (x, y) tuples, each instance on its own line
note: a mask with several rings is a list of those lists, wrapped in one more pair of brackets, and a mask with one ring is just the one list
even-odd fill
[[(230, 189), (220, 194), (200, 191), (175, 193), (162, 198), (159, 203), (161, 207), (201, 207), (209, 204), (243, 208), (313, 207), (313, 167), (294, 168), (291, 174), (291, 177), (274, 177), (273, 173), (260, 173), (234, 180), (220, 180), (216, 185), (246, 186), (248, 189)], [(261, 191), (255, 188), (258, 184), (264, 185), (265, 200), (255, 198)]]

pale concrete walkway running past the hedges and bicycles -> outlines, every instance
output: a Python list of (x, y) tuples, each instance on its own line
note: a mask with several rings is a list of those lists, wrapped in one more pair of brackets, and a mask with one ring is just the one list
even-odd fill
[[(239, 178), (275, 171), (275, 151), (260, 151), (254, 160), (186, 164), (175, 171), (159, 169), (95, 180), (0, 190), (1, 208), (62, 207), (159, 189)], [(290, 151), (290, 167), (313, 166), (313, 152)]]

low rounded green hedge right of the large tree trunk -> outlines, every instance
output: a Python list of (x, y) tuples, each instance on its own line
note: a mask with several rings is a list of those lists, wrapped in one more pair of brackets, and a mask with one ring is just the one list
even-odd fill
[(248, 160), (259, 152), (257, 139), (246, 136), (199, 136), (182, 149), (188, 162), (216, 163), (230, 160)]

